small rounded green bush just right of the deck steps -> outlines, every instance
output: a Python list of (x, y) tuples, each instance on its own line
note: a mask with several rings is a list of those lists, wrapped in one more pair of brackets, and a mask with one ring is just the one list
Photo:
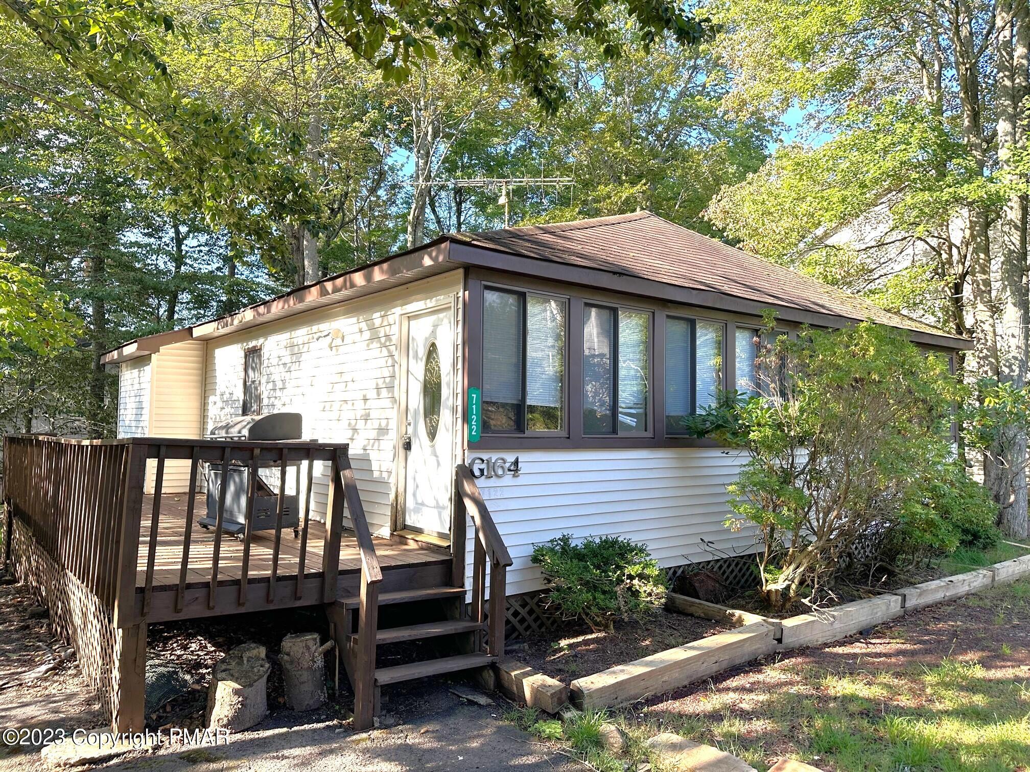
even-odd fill
[(639, 620), (665, 602), (666, 581), (647, 548), (621, 536), (573, 543), (563, 533), (533, 551), (549, 586), (546, 603), (562, 619), (611, 630), (616, 619)]

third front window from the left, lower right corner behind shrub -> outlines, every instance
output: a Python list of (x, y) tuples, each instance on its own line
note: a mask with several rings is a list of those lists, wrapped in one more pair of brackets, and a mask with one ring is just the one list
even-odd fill
[(684, 432), (683, 421), (715, 405), (722, 388), (721, 322), (665, 319), (665, 432)]

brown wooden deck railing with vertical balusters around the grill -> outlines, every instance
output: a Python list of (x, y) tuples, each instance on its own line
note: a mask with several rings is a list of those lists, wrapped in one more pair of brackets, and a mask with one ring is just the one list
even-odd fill
[[(154, 462), (153, 495), (149, 512), (144, 513), (144, 485), (149, 460)], [(81, 582), (105, 607), (112, 610), (116, 624), (124, 626), (145, 621), (151, 615), (158, 534), (162, 528), (162, 492), (166, 467), (170, 461), (188, 462), (190, 482), (186, 491), (179, 491), (185, 496), (186, 517), (182, 521), (178, 584), (171, 608), (162, 608), (161, 618), (167, 619), (170, 615), (182, 612), (191, 601), (194, 607), (187, 616), (251, 610), (283, 601), (297, 605), (299, 601), (329, 603), (336, 600), (345, 498), (345, 486), (339, 481), (337, 473), (341, 460), (349, 470), (346, 445), (165, 437), (84, 441), (10, 435), (4, 438), (7, 472), (5, 497), (10, 503), (13, 519), (24, 521), (39, 547), (62, 569), (68, 570)], [(242, 534), (243, 557), (239, 566), (238, 587), (219, 585), (228, 485), (220, 486), (217, 499), (213, 554), (207, 587), (205, 590), (198, 590), (196, 586), (187, 590), (186, 587), (201, 462), (220, 468), (222, 480), (228, 478), (229, 468), (234, 463), (244, 463), (249, 467)], [(307, 486), (300, 527), (301, 549), (296, 578), (293, 580), (291, 587), (286, 587), (278, 575), (286, 469), (290, 464), (299, 462), (307, 465)], [(339, 506), (330, 506), (327, 514), (322, 564), (319, 566), (320, 592), (317, 594), (312, 593), (310, 582), (307, 583), (307, 592), (305, 591), (305, 559), (315, 462), (331, 465), (330, 480), (333, 482), (330, 496), (332, 499), (335, 494), (335, 499), (340, 502)], [(258, 496), (259, 469), (269, 467), (278, 470), (279, 490), (276, 494), (276, 521), (268, 585), (267, 588), (258, 588), (249, 581), (254, 501)], [(350, 472), (350, 480), (352, 483), (353, 472)], [(359, 521), (368, 536), (356, 486), (349, 499), (351, 520), (355, 526)], [(355, 531), (359, 530), (362, 528), (355, 527)], [(141, 531), (147, 535), (147, 546), (143, 586), (139, 592), (137, 566)], [(367, 543), (371, 547), (371, 536), (368, 536)], [(206, 610), (198, 607), (199, 595), (204, 596)]]

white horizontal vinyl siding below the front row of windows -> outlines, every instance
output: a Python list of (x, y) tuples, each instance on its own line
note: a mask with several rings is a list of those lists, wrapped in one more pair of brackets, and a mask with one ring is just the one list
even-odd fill
[[(753, 531), (734, 533), (723, 525), (726, 484), (747, 454), (718, 448), (470, 453), (509, 462), (519, 457), (519, 477), (477, 481), (514, 561), (509, 595), (543, 587), (530, 562), (534, 545), (562, 533), (625, 536), (647, 545), (663, 567), (754, 552)], [(708, 552), (701, 539), (719, 552)], [(467, 587), (472, 546), (470, 535)]]

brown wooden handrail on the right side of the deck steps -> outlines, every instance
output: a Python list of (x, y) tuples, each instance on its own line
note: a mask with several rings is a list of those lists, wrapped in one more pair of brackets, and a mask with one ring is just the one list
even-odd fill
[[(483, 501), (479, 486), (472, 472), (465, 464), (458, 464), (454, 470), (454, 488), (456, 505), (454, 507), (454, 523), (452, 524), (452, 539), (455, 545), (465, 543), (466, 514), (472, 518), (475, 528), (472, 562), (472, 618), (480, 625), (486, 625), (486, 653), (493, 655), (497, 661), (505, 654), (505, 605), (507, 603), (507, 573), (512, 564), (511, 555), (505, 547), (504, 539), (497, 531), (490, 511)], [(465, 582), (465, 551), (453, 554), (454, 582)], [(486, 600), (486, 565), (490, 566), (490, 598), (489, 608)], [(460, 587), (461, 585), (456, 585)], [(481, 637), (482, 633), (476, 633)], [(482, 641), (477, 640), (477, 650), (482, 650)]]

